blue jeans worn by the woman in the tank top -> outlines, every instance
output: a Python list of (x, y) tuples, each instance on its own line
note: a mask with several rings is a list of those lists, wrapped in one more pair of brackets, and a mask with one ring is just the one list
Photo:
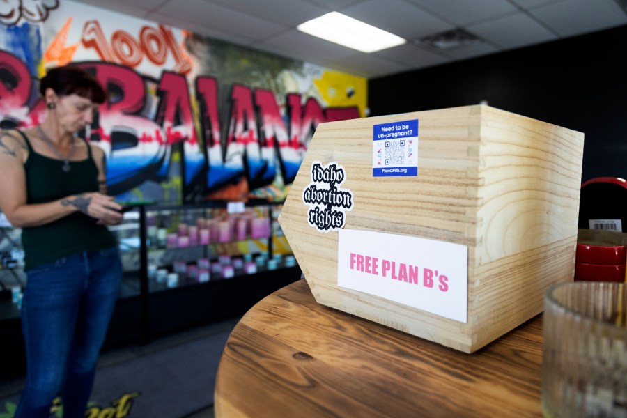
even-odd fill
[(48, 418), (59, 393), (64, 418), (84, 417), (121, 278), (115, 247), (72, 254), (27, 272), (26, 387), (16, 418)]

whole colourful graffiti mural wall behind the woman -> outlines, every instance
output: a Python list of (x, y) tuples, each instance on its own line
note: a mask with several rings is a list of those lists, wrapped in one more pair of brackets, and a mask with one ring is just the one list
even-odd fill
[(45, 68), (86, 68), (109, 100), (81, 135), (104, 149), (120, 200), (283, 199), (317, 125), (364, 116), (362, 77), (81, 3), (38, 3), (38, 22), (23, 8), (0, 13), (0, 125), (42, 120)]

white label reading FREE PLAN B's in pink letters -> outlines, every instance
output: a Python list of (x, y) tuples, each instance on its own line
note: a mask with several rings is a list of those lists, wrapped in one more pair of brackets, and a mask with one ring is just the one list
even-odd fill
[(337, 285), (467, 323), (468, 247), (341, 229)]

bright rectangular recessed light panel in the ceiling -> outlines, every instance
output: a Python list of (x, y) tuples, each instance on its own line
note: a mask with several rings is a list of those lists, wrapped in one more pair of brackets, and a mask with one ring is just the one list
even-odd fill
[(316, 19), (299, 24), (296, 29), (367, 53), (396, 47), (406, 42), (400, 36), (338, 12), (316, 17)]

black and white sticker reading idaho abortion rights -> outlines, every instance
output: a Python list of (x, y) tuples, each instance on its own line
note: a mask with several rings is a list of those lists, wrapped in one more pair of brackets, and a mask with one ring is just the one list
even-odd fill
[(346, 224), (346, 212), (353, 209), (353, 192), (340, 186), (346, 180), (337, 162), (327, 166), (311, 163), (311, 183), (302, 190), (302, 202), (309, 205), (307, 222), (318, 231), (339, 231)]

